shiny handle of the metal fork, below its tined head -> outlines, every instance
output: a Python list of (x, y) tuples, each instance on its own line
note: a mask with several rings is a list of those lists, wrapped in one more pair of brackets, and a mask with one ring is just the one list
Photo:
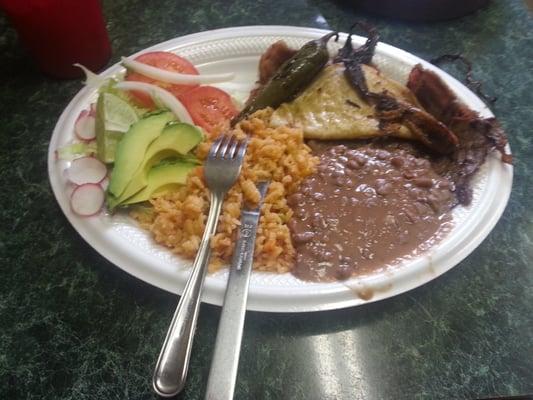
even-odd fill
[(223, 194), (211, 193), (211, 206), (200, 248), (157, 360), (153, 386), (162, 397), (175, 396), (185, 386), (202, 286), (211, 255), (211, 236), (216, 232), (223, 198)]

